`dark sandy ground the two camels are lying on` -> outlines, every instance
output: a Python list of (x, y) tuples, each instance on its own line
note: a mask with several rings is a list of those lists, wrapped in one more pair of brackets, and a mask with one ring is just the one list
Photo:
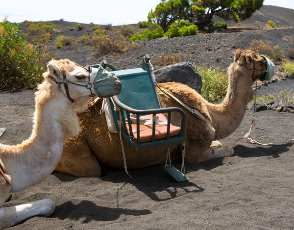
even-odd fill
[[(0, 92), (0, 127), (6, 128), (2, 144), (21, 143), (29, 137), (34, 92)], [(41, 184), (13, 194), (5, 204), (50, 198), (56, 205), (53, 215), (33, 217), (10, 229), (294, 229), (294, 146), (247, 143), (244, 134), (251, 119), (252, 112), (247, 110), (240, 127), (221, 141), (234, 148), (233, 157), (186, 164), (190, 179), (186, 183), (176, 183), (162, 165), (129, 170), (134, 179), (115, 169), (90, 179), (53, 173)], [(252, 138), (260, 142), (294, 138), (294, 114), (258, 112), (255, 124)], [(173, 165), (180, 168), (179, 161)]]

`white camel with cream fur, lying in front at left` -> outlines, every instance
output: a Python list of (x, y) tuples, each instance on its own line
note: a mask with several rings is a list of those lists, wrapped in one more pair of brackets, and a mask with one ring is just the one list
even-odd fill
[[(60, 160), (64, 141), (79, 133), (73, 100), (74, 104), (84, 104), (89, 100), (89, 95), (98, 95), (95, 89), (99, 92), (99, 83), (94, 89), (93, 81), (95, 83), (106, 78), (108, 85), (101, 86), (109, 90), (109, 95), (105, 96), (113, 96), (110, 93), (112, 88), (119, 88), (120, 91), (121, 81), (107, 72), (97, 77), (101, 71), (104, 70), (87, 69), (68, 59), (49, 62), (48, 72), (43, 74), (45, 81), (36, 92), (34, 126), (30, 138), (16, 146), (0, 144), (0, 205), (4, 204), (11, 192), (38, 184), (53, 172)], [(49, 199), (2, 207), (0, 229), (14, 226), (31, 216), (49, 216), (54, 208), (54, 203)]]

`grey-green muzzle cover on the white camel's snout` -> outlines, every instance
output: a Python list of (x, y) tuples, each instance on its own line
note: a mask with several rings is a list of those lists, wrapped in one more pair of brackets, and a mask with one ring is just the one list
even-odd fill
[(93, 68), (93, 71), (95, 70), (97, 70), (97, 73), (93, 83), (99, 98), (109, 98), (121, 93), (122, 81), (118, 77), (102, 67)]

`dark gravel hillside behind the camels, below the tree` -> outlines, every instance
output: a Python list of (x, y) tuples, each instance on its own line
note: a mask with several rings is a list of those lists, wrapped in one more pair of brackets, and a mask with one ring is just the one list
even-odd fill
[[(276, 23), (277, 27), (275, 29), (261, 29), (267, 26), (267, 21), (270, 19)], [(216, 18), (214, 21), (221, 20)], [(204, 66), (219, 66), (224, 69), (231, 63), (234, 51), (239, 48), (247, 49), (253, 40), (272, 42), (273, 45), (279, 45), (281, 50), (286, 51), (287, 47), (294, 44), (293, 22), (294, 10), (265, 5), (255, 12), (250, 19), (241, 21), (241, 25), (226, 21), (227, 25), (233, 26), (233, 28), (229, 28), (224, 32), (213, 34), (203, 32), (196, 36), (140, 41), (141, 46), (135, 51), (115, 56), (109, 54), (103, 57), (117, 69), (137, 67), (140, 65), (140, 55), (142, 53), (149, 53), (152, 56), (151, 60), (155, 68), (159, 68), (155, 63), (157, 57), (165, 54), (177, 54), (182, 58), (182, 61)], [(98, 63), (99, 57), (94, 57), (90, 54), (94, 51), (91, 46), (74, 43), (85, 32), (88, 32), (89, 36), (91, 36), (93, 25), (80, 24), (83, 28), (82, 30), (70, 31), (66, 27), (73, 27), (77, 23), (65, 21), (51, 21), (51, 23), (57, 25), (58, 30), (61, 31), (55, 34), (47, 44), (49, 52), (54, 54), (55, 59), (69, 58), (83, 65)], [(136, 25), (133, 26), (136, 27)], [(248, 29), (242, 29), (241, 27), (247, 27)], [(253, 27), (259, 27), (259, 29), (250, 29)], [(22, 32), (27, 33), (25, 23), (22, 23)], [(72, 37), (73, 45), (57, 49), (54, 44), (59, 35)]]

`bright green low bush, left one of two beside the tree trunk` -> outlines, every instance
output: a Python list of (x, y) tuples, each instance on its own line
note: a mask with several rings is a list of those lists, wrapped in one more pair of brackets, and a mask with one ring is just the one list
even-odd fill
[(138, 33), (134, 33), (130, 38), (130, 41), (151, 40), (155, 38), (161, 38), (163, 36), (163, 28), (158, 26), (156, 23), (152, 23), (149, 25), (149, 28), (139, 29)]

